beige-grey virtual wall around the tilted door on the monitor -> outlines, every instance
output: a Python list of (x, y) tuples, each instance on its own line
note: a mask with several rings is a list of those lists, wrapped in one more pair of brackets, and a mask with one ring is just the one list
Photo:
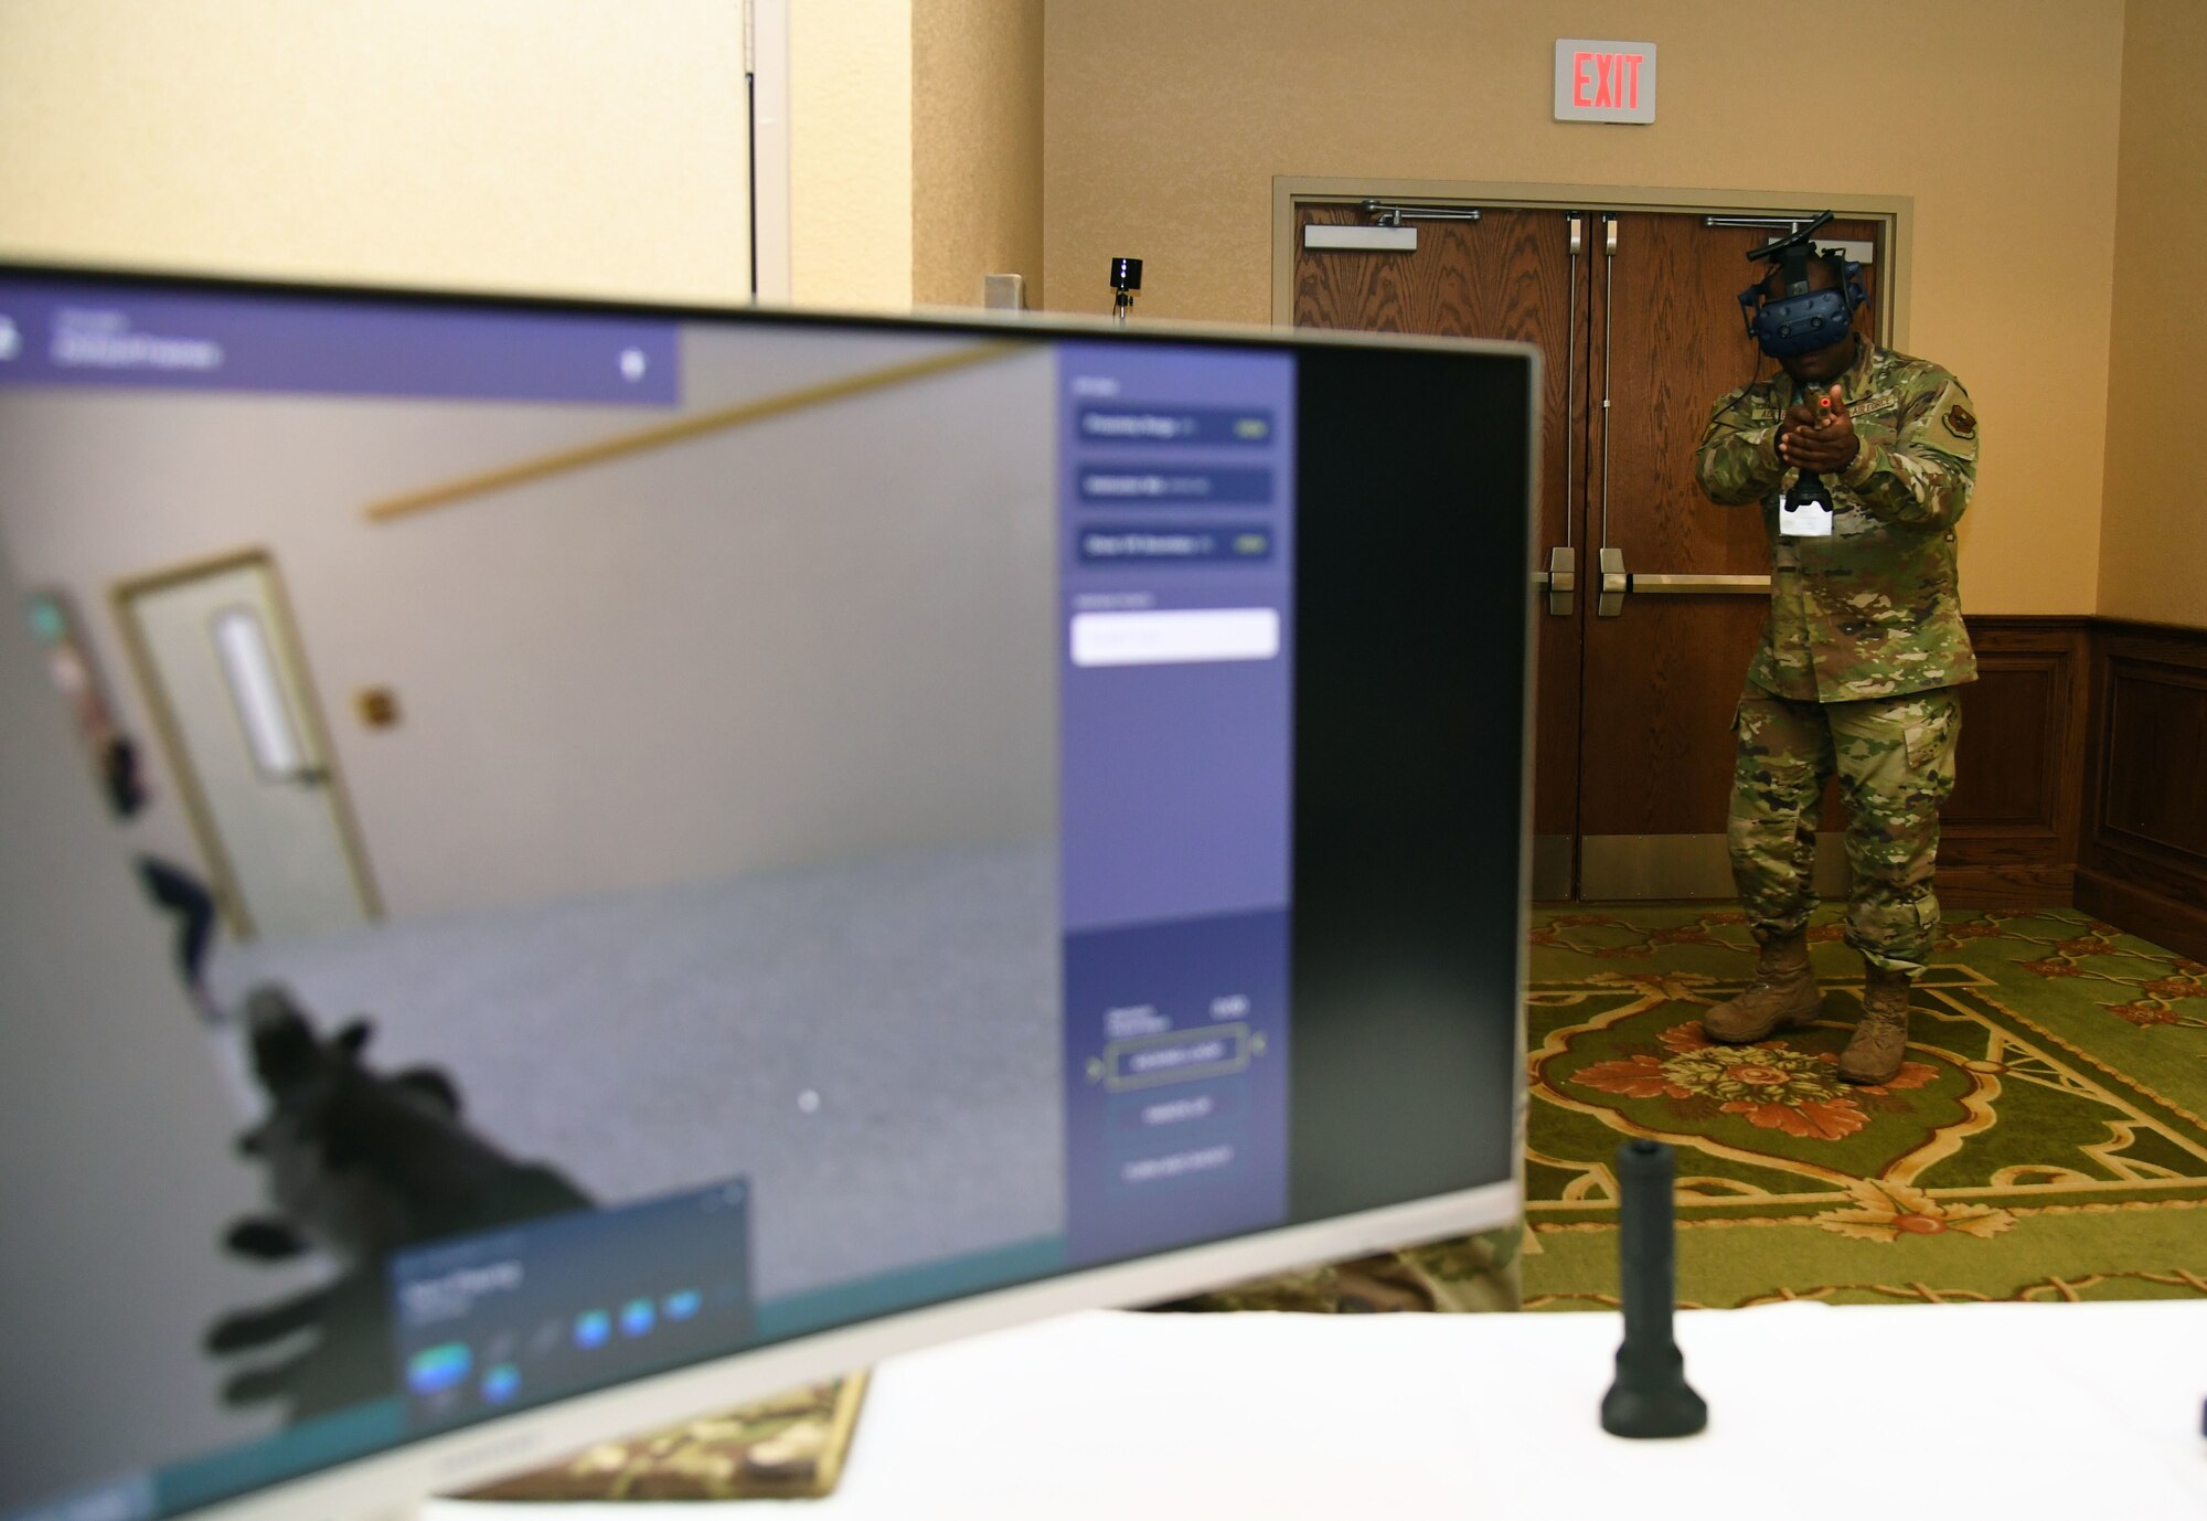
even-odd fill
[[(969, 340), (689, 336), (684, 411)], [(1055, 834), (1046, 349), (369, 523), (377, 499), (662, 422), (640, 408), (15, 395), (22, 574), (68, 587), (146, 834), (196, 854), (115, 581), (274, 554), (393, 916)], [(364, 728), (351, 693), (391, 687)]]

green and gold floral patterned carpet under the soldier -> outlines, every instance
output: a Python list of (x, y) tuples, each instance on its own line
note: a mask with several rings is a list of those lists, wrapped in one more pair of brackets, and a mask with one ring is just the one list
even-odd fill
[(1909, 1062), (1849, 1088), (1836, 910), (1825, 1018), (1710, 1046), (1752, 967), (1737, 912), (1534, 914), (1527, 1227), (1245, 1285), (1198, 1307), (1616, 1305), (1618, 1139), (1677, 1146), (1684, 1305), (2207, 1298), (2207, 967), (2075, 912), (1953, 912)]

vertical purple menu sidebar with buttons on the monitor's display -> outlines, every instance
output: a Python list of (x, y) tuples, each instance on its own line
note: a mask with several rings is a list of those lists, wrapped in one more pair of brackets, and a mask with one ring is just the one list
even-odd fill
[(1287, 1214), (1296, 364), (1059, 349), (1068, 1256)]

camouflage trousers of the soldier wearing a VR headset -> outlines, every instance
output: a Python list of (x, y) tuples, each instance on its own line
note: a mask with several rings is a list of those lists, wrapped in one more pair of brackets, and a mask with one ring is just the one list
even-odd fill
[(1838, 775), (1847, 945), (1883, 971), (1920, 974), (1938, 934), (1931, 870), (1962, 731), (1955, 689), (1801, 702), (1748, 687), (1735, 726), (1732, 881), (1757, 940), (1799, 934), (1816, 907), (1816, 812)]

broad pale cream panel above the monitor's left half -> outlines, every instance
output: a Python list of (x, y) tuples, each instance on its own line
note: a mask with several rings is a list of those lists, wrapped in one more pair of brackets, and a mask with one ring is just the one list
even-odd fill
[(750, 289), (735, 0), (7, 0), (0, 249), (399, 285)]

